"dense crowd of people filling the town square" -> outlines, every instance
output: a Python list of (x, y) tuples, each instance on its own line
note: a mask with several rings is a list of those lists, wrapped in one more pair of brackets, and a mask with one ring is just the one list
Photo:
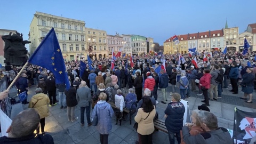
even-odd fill
[[(100, 133), (101, 143), (108, 143), (108, 134), (112, 127), (111, 118), (114, 113), (121, 113), (124, 118), (123, 109), (135, 109), (134, 120), (138, 123), (137, 143), (152, 143), (154, 119), (157, 115), (156, 105), (159, 103), (158, 89), (161, 89), (161, 103), (167, 104), (164, 117), (170, 143), (174, 143), (174, 134), (178, 143), (231, 143), (229, 133), (225, 128), (218, 127), (216, 116), (209, 112), (207, 106), (210, 106), (209, 99), (217, 101), (222, 97), (222, 89), (230, 89), (233, 94), (238, 94), (239, 86), (244, 92), (241, 99), (252, 103), (256, 74), (254, 52), (249, 51), (246, 55), (206, 54), (207, 60), (204, 59), (204, 55), (193, 57), (189, 54), (166, 54), (158, 57), (149, 55), (133, 57), (133, 61), (130, 61), (130, 58), (117, 58), (114, 69), (111, 69), (111, 61), (107, 59), (94, 60), (92, 69), (87, 65), (83, 73), (79, 61), (66, 61), (71, 85), (68, 90), (64, 83), (55, 83), (51, 71), (30, 65), (22, 71), (15, 86), (18, 93), (27, 93), (29, 87), (37, 87), (36, 94), (29, 102), (27, 99), (22, 101), (24, 105), (29, 103), (28, 108), (34, 108), (38, 113), (41, 134), (39, 127), (33, 127), (36, 135), (45, 135), (45, 118), (49, 116), (48, 106), (57, 106), (59, 102), (60, 109), (67, 108), (67, 118), (70, 122), (78, 119), (78, 116), (75, 116), (75, 109), (77, 106), (80, 107), (81, 126), (85, 123), (85, 112), (87, 126), (91, 126), (91, 119), (98, 116), (97, 130)], [(193, 62), (194, 58), (196, 63)], [(86, 60), (84, 62), (87, 63)], [(159, 73), (156, 71), (158, 67), (161, 67)], [(12, 67), (10, 71), (2, 69), (1, 75), (9, 76), (8, 83), (11, 83), (20, 69), (21, 67)], [(230, 79), (230, 84), (227, 79)], [(168, 86), (172, 91), (169, 102), (167, 99), (169, 94), (166, 93)], [(176, 87), (180, 91), (177, 91)], [(125, 93), (122, 90), (125, 90)], [(202, 106), (209, 110), (193, 111), (191, 115), (193, 123), (186, 123), (183, 126), (185, 107), (180, 100), (189, 98), (191, 91), (204, 96)], [(56, 99), (57, 92), (59, 100)], [(5, 98), (7, 93), (7, 91), (1, 92), (0, 97)], [(113, 102), (118, 109), (113, 110), (109, 102)], [(132, 105), (134, 102), (137, 102), (137, 107)], [(92, 115), (90, 115), (91, 108)], [(32, 113), (31, 110), (29, 113)], [(209, 138), (209, 135), (212, 137)], [(27, 136), (31, 137), (31, 133)]]

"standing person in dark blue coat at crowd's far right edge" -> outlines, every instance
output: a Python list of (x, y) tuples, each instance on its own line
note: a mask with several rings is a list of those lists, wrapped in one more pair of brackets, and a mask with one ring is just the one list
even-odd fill
[(242, 85), (242, 92), (244, 92), (244, 97), (240, 98), (243, 100), (247, 100), (247, 95), (249, 95), (249, 100), (245, 101), (247, 103), (252, 103), (252, 93), (254, 89), (254, 79), (255, 75), (252, 73), (253, 68), (247, 68), (246, 73), (243, 74), (243, 81), (239, 81), (240, 85)]

